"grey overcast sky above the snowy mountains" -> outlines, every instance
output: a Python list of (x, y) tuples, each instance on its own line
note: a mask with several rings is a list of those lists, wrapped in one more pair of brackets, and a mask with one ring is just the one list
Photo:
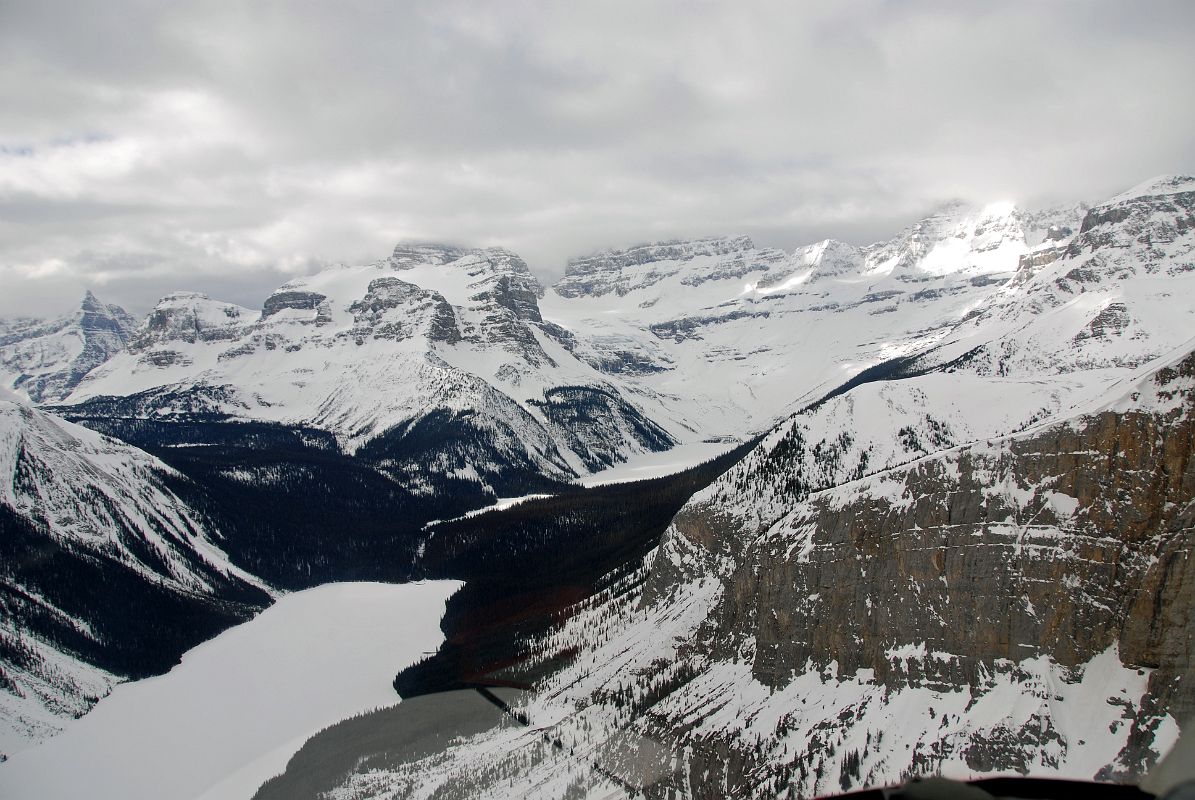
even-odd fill
[(0, 314), (400, 239), (887, 238), (1195, 169), (1195, 2), (0, 0)]

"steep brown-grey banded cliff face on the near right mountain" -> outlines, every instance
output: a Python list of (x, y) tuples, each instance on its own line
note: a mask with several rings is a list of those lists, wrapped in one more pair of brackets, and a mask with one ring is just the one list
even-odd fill
[[(1195, 374), (1195, 358), (1179, 368)], [(1175, 598), (1159, 590), (1195, 599), (1183, 556), (1195, 508), (1191, 422), (1109, 411), (817, 495), (728, 554), (742, 566), (715, 641), (734, 649), (735, 637), (754, 636), (755, 674), (771, 684), (810, 658), (887, 679), (884, 651), (902, 639), (966, 654), (951, 664), (972, 679), (976, 664), (1019, 660), (1025, 648), (1076, 666), (1116, 642), (1132, 666), (1165, 661), (1153, 686), (1181, 698), (1171, 708), (1185, 716), (1195, 697), (1172, 689), (1193, 655), (1182, 647), (1183, 609), (1195, 606), (1169, 607)], [(736, 537), (710, 538), (705, 513), (687, 509), (678, 533), (733, 548)], [(772, 609), (788, 613), (762, 613)], [(1181, 652), (1163, 658), (1162, 641)]]

